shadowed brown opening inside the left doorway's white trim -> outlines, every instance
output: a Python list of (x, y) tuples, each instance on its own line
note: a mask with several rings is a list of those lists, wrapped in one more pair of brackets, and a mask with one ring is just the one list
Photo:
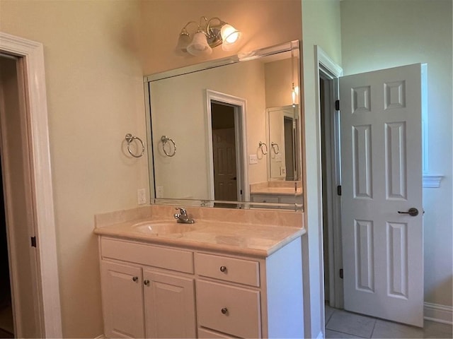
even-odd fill
[(7, 338), (38, 338), (42, 333), (25, 97), (23, 59), (0, 54), (0, 194), (4, 201), (0, 221), (6, 239), (1, 243), (0, 330)]

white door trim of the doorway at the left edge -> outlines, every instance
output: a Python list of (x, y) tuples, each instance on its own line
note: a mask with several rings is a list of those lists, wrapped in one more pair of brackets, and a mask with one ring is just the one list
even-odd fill
[(30, 140), (33, 212), (37, 241), (38, 300), (42, 337), (62, 338), (57, 242), (45, 90), (44, 49), (40, 42), (0, 32), (0, 52), (23, 58)]

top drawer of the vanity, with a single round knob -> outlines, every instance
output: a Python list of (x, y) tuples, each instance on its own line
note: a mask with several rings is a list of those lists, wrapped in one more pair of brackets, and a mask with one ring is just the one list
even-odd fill
[(198, 275), (232, 283), (260, 286), (258, 261), (196, 253), (195, 263)]

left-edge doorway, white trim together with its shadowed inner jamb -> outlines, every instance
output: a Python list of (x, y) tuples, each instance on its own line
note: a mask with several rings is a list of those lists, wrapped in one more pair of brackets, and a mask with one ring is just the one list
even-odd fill
[[(13, 101), (25, 102), (21, 107), (22, 114), (12, 115), (16, 121), (1, 119), (0, 122), (2, 144), (7, 144), (7, 147), (4, 146), (1, 150), (1, 164), (8, 242), (11, 238), (14, 242), (8, 251), (11, 299), (15, 316), (14, 334), (17, 338), (62, 338), (44, 47), (40, 42), (0, 32), (0, 55), (15, 61), (16, 67), (0, 67), (0, 70), (16, 69), (16, 76), (9, 78), (21, 82), (22, 98)], [(8, 100), (14, 98), (11, 95), (3, 97)], [(6, 112), (6, 109), (2, 109), (2, 112)], [(18, 129), (21, 129), (22, 133), (18, 133)], [(5, 143), (6, 141), (8, 143)], [(25, 146), (28, 148), (24, 148)], [(21, 162), (28, 162), (28, 175), (25, 175), (23, 170), (14, 169), (14, 165)], [(8, 177), (9, 174), (13, 175)], [(24, 194), (23, 189), (17, 189), (16, 184), (26, 186), (27, 194)], [(16, 205), (20, 203), (28, 203), (28, 208), (17, 208)], [(10, 206), (16, 207), (11, 210)], [(10, 222), (13, 216), (32, 218), (33, 231), (28, 227), (13, 225), (14, 222)], [(21, 222), (18, 222), (18, 225), (21, 225)], [(11, 230), (14, 233), (22, 231), (26, 234), (23, 237), (16, 234), (12, 236)], [(33, 244), (36, 246), (32, 246)], [(33, 267), (30, 265), (32, 261), (35, 263)], [(23, 278), (19, 271), (29, 272), (33, 278)], [(27, 305), (26, 299), (30, 295), (33, 295), (33, 306)]]

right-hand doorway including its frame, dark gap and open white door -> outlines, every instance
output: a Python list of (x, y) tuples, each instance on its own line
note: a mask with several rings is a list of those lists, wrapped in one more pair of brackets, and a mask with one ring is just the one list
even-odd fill
[(412, 326), (423, 326), (423, 72), (342, 76), (338, 91), (340, 74), (319, 62), (317, 82), (326, 301)]

